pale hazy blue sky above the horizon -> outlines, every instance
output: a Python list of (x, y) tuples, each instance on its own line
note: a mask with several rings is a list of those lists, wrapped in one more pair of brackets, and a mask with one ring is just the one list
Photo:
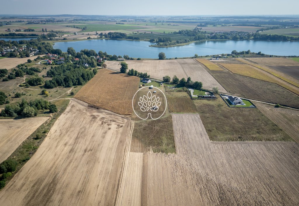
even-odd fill
[(298, 15), (298, 0), (0, 0), (1, 14)]

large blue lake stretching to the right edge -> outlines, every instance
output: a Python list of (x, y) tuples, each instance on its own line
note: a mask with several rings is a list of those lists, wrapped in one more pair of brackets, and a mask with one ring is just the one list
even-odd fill
[(260, 41), (260, 40), (226, 40), (226, 41), (200, 41), (177, 47), (149, 47), (153, 43), (149, 41), (129, 41), (112, 39), (93, 39), (84, 41), (56, 42), (55, 49), (67, 51), (73, 47), (77, 52), (82, 49), (93, 49), (96, 52), (103, 51), (108, 54), (123, 56), (124, 54), (134, 58), (158, 58), (158, 53), (164, 52), (167, 58), (191, 57), (231, 53), (233, 50), (259, 52), (280, 56), (299, 56), (299, 41)]

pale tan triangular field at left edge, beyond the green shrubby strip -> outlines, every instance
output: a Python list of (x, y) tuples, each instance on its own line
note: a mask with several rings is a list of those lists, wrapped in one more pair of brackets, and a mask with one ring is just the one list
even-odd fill
[(7, 159), (48, 117), (0, 119), (0, 163)]

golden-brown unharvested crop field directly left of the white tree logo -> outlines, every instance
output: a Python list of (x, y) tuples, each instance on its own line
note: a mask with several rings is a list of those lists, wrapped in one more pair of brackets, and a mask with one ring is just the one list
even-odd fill
[(74, 97), (118, 114), (132, 114), (132, 99), (139, 81), (136, 76), (100, 69)]

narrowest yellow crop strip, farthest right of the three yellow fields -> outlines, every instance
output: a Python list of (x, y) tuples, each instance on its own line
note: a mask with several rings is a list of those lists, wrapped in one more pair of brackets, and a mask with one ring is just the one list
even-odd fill
[(298, 80), (294, 79), (292, 76), (286, 75), (286, 74), (281, 73), (281, 72), (277, 72), (277, 71), (275, 71), (275, 70), (273, 70), (273, 69), (271, 69), (270, 67), (267, 67), (267, 66), (260, 66), (260, 65), (254, 64), (254, 63), (249, 62), (245, 59), (237, 59), (237, 60), (239, 60), (240, 62), (243, 62), (245, 64), (249, 64), (251, 66), (257, 67), (261, 70), (264, 70), (264, 71), (268, 72), (269, 74), (272, 74), (272, 75), (276, 76), (277, 78), (282, 79), (283, 81), (294, 85), (295, 87), (299, 87)]

